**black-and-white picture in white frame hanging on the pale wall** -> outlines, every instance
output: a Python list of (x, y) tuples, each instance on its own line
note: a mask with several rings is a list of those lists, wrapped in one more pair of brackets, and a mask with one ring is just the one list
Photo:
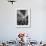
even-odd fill
[(30, 27), (31, 25), (31, 9), (16, 9), (16, 27)]

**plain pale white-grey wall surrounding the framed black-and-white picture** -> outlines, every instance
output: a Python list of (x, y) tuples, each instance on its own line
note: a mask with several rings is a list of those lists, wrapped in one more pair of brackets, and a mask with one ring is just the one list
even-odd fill
[[(16, 8), (31, 8), (30, 28), (15, 27)], [(21, 31), (30, 33), (33, 40), (46, 40), (45, 12), (45, 0), (17, 0), (14, 5), (6, 0), (0, 0), (0, 40), (14, 40)]]

